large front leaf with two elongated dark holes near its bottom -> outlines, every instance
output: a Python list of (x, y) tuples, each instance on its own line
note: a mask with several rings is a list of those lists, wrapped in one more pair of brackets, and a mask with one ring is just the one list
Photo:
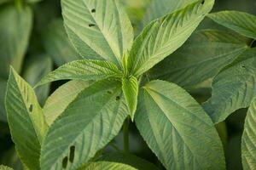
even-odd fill
[(61, 169), (65, 162), (70, 170), (82, 166), (119, 133), (127, 113), (120, 82), (96, 82), (82, 90), (49, 127), (42, 170)]

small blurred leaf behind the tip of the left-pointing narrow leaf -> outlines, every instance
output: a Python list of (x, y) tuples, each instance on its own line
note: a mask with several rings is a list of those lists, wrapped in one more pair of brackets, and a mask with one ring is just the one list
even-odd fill
[[(46, 74), (52, 70), (52, 60), (47, 54), (32, 55), (26, 60), (24, 66), (23, 77), (32, 86), (35, 86)], [(38, 102), (44, 105), (49, 95), (49, 85), (35, 89)]]

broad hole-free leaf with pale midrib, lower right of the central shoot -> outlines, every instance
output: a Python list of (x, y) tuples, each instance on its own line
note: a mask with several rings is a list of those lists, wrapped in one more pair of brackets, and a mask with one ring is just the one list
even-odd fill
[(207, 113), (183, 88), (153, 81), (141, 89), (137, 128), (166, 169), (224, 169), (224, 151)]

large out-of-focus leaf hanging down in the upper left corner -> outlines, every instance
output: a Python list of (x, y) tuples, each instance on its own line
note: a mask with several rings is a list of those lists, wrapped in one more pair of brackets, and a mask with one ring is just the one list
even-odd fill
[(20, 72), (32, 29), (32, 10), (6, 6), (0, 10), (0, 77), (8, 78), (9, 65)]

